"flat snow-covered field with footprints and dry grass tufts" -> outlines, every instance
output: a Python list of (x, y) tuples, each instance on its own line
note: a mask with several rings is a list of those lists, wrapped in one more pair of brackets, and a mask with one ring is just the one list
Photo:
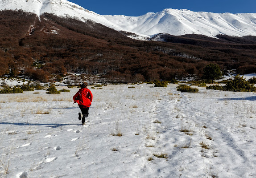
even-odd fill
[(86, 125), (78, 88), (1, 94), (0, 177), (256, 177), (255, 93), (152, 86), (91, 89)]

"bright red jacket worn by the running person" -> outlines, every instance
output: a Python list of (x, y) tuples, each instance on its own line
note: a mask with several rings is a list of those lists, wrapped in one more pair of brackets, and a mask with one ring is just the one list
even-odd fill
[(80, 106), (90, 107), (92, 101), (92, 93), (90, 89), (82, 88), (74, 95), (74, 103), (78, 103)]

